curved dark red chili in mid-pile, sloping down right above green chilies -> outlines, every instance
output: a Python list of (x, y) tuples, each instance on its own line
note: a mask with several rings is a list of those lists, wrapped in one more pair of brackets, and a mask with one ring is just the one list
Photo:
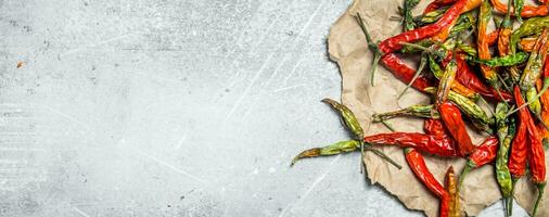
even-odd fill
[[(476, 76), (476, 74), (471, 69), (469, 64), (465, 61), (464, 54), (458, 54), (456, 58), (456, 62), (458, 63), (458, 73), (456, 75), (456, 80), (461, 82), (461, 85), (474, 90), (478, 94), (482, 94), (483, 97), (493, 99), (493, 100), (500, 100), (499, 94), (497, 91), (486, 86), (480, 78)], [(510, 101), (513, 99), (513, 95), (511, 95), (509, 92), (501, 91), (501, 95), (506, 101)]]

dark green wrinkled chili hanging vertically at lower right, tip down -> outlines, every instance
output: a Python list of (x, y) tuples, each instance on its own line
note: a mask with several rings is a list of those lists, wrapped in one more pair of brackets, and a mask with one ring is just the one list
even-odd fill
[(496, 123), (498, 127), (498, 139), (500, 141), (496, 156), (496, 179), (501, 190), (501, 195), (503, 195), (503, 200), (508, 200), (512, 196), (511, 190), (513, 188), (511, 173), (509, 171), (507, 162), (509, 157), (509, 148), (514, 137), (514, 119), (510, 118), (508, 122), (506, 116), (508, 111), (509, 107), (505, 103), (498, 103), (496, 105)]

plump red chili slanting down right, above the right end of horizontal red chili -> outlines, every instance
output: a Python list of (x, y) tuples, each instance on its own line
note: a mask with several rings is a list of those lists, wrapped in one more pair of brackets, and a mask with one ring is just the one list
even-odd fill
[(467, 132), (465, 123), (461, 117), (461, 111), (450, 102), (444, 102), (438, 107), (438, 113), (451, 137), (458, 143), (461, 155), (468, 155), (475, 150), (471, 137)]

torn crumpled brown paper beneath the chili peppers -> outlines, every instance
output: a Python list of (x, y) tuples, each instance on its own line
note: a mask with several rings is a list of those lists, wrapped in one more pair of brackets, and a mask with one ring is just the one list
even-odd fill
[[(425, 1), (418, 7), (424, 9)], [(370, 85), (370, 65), (372, 54), (367, 48), (366, 39), (353, 15), (359, 12), (374, 40), (382, 40), (400, 33), (400, 24), (390, 21), (396, 14), (401, 1), (387, 0), (355, 0), (347, 12), (332, 26), (329, 36), (329, 53), (337, 62), (343, 77), (342, 101), (355, 111), (367, 135), (387, 131), (383, 125), (370, 124), (373, 113), (394, 111), (412, 104), (427, 103), (429, 99), (416, 90), (408, 90), (399, 101), (398, 93), (405, 84), (397, 80), (382, 66), (379, 67), (374, 87)], [(390, 120), (398, 131), (422, 131), (422, 122), (419, 119), (398, 118)], [(478, 144), (483, 136), (473, 133), (473, 141)], [(404, 166), (401, 170), (388, 165), (371, 153), (367, 153), (365, 162), (368, 177), (373, 183), (380, 183), (391, 194), (400, 200), (406, 207), (422, 210), (427, 216), (437, 216), (438, 199), (414, 177), (407, 167), (403, 150), (395, 146), (380, 148), (390, 157)], [(547, 155), (546, 155), (547, 156)], [(547, 159), (547, 157), (546, 157)], [(433, 175), (443, 183), (446, 169), (454, 165), (461, 171), (464, 159), (448, 159), (435, 156), (425, 156), (426, 164)], [(549, 165), (549, 164), (547, 164)], [(487, 165), (469, 174), (461, 191), (463, 209), (470, 216), (477, 215), (485, 207), (501, 199), (499, 188), (494, 175), (494, 166)], [(549, 189), (549, 188), (548, 188)], [(547, 190), (546, 190), (547, 191)], [(516, 184), (515, 200), (527, 212), (533, 208), (533, 200), (537, 193), (526, 178)], [(548, 193), (546, 192), (546, 195)], [(538, 216), (549, 215), (549, 200), (540, 204)]]

